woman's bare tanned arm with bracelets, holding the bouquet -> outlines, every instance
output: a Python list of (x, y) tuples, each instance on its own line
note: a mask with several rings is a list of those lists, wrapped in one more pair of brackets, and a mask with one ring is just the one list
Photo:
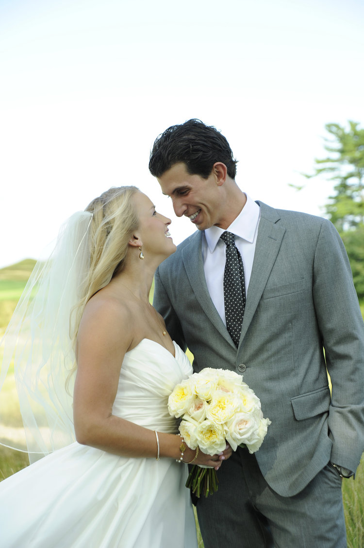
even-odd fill
[[(125, 353), (140, 342), (135, 340), (138, 329), (132, 316), (126, 307), (101, 296), (86, 305), (78, 332), (74, 430), (84, 445), (123, 456), (156, 458), (155, 432), (112, 414)], [(180, 459), (180, 436), (158, 432), (158, 439), (161, 457)], [(187, 447), (183, 461), (193, 460), (195, 453)], [(219, 456), (200, 452), (195, 464), (218, 467), (228, 456), (229, 451)]]

